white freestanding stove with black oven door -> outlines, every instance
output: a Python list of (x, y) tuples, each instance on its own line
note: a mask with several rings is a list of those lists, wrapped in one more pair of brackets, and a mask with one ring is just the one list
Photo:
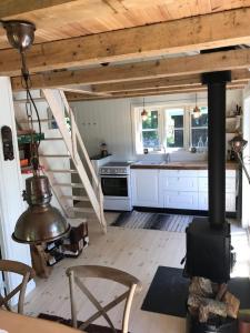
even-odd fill
[(109, 162), (99, 169), (104, 195), (104, 210), (131, 211), (131, 181), (129, 162)]

